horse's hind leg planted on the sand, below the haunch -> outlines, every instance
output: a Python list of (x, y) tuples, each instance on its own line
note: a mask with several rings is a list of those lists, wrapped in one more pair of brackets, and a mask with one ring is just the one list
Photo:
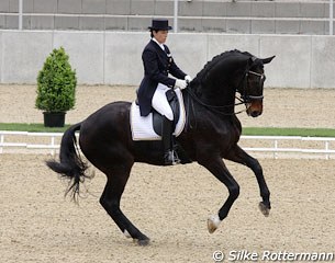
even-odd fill
[(130, 176), (131, 168), (112, 169), (107, 173), (108, 181), (100, 198), (100, 204), (115, 221), (120, 230), (127, 237), (137, 240), (139, 245), (149, 243), (149, 238), (143, 235), (122, 213), (120, 201)]

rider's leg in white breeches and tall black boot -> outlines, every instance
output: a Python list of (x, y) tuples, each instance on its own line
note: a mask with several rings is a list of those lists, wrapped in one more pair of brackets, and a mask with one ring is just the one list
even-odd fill
[(161, 142), (164, 148), (164, 162), (166, 165), (172, 165), (180, 162), (177, 152), (174, 151), (174, 138), (172, 138), (172, 122), (174, 113), (166, 99), (166, 91), (169, 88), (163, 84), (158, 84), (156, 92), (153, 96), (153, 107), (163, 115), (161, 127)]

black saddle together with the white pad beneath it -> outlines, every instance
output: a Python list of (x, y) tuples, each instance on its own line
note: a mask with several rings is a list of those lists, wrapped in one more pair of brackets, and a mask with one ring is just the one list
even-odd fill
[[(181, 134), (186, 123), (186, 112), (183, 99), (180, 90), (168, 90), (167, 100), (174, 113), (174, 135), (178, 137)], [(139, 114), (137, 100), (131, 107), (131, 129), (133, 140), (160, 140), (161, 139), (163, 115), (153, 111), (149, 115), (143, 117)]]

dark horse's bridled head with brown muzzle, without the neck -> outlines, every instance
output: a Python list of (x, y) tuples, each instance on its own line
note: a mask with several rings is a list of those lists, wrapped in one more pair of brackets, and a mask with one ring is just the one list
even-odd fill
[(263, 113), (263, 90), (266, 79), (264, 65), (269, 64), (273, 58), (275, 56), (268, 58), (252, 56), (247, 61), (237, 91), (246, 104), (246, 113), (249, 116), (257, 117)]

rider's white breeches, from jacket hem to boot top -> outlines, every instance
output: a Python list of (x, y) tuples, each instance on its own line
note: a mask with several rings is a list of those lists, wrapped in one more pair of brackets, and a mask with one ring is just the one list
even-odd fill
[(152, 105), (161, 115), (165, 115), (168, 119), (174, 121), (174, 113), (165, 94), (168, 90), (169, 88), (167, 85), (158, 83), (153, 96)]

